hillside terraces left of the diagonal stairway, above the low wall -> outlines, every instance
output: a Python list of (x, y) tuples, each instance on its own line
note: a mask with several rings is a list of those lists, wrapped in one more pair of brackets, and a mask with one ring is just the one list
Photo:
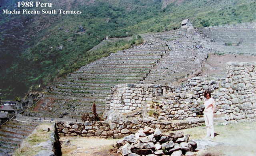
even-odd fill
[[(98, 112), (103, 112), (105, 98), (110, 95), (112, 86), (142, 81), (164, 52), (165, 50), (120, 51), (88, 64), (50, 87), (44, 98), (55, 100), (48, 106), (48, 110), (53, 110), (57, 116), (62, 116), (63, 111), (67, 111), (68, 118), (80, 119), (81, 113), (90, 112), (95, 103)], [(51, 114), (52, 112), (43, 116)]]

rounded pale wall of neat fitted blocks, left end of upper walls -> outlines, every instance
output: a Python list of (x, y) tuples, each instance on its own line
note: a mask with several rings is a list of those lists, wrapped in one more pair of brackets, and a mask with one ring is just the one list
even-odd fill
[[(111, 114), (129, 113), (137, 108), (141, 108), (143, 102), (152, 101), (153, 97), (162, 96), (171, 90), (168, 86), (125, 84), (112, 88), (110, 106), (106, 116)], [(107, 113), (107, 112), (105, 112)]]

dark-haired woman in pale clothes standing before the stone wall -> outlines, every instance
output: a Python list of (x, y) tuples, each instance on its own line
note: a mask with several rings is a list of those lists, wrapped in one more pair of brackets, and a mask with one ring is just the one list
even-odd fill
[(213, 114), (216, 110), (215, 101), (211, 98), (209, 91), (204, 92), (204, 122), (206, 125), (207, 135), (205, 137), (214, 138)]

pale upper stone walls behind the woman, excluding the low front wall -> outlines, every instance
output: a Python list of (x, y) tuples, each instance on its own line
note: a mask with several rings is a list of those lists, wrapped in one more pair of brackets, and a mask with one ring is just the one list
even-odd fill
[(216, 114), (226, 114), (227, 120), (254, 118), (255, 62), (229, 62), (226, 68), (226, 79), (194, 77), (178, 87), (148, 84), (116, 86), (112, 88), (112, 96), (107, 100), (105, 114), (111, 119), (141, 108), (145, 102), (148, 108), (158, 108), (159, 120), (195, 118), (202, 115), (203, 94), (210, 90), (216, 101)]

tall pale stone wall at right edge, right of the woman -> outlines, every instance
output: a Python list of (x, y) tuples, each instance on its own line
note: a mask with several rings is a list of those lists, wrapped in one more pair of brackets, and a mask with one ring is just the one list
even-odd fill
[(254, 118), (256, 114), (256, 62), (228, 62), (223, 93), (226, 120)]

